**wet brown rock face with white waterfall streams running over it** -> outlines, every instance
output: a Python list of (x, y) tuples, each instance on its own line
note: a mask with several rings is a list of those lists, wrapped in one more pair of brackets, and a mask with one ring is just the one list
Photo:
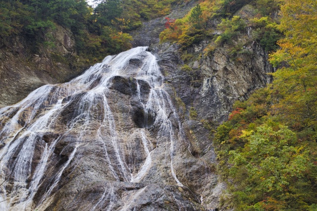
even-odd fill
[(145, 50), (0, 110), (1, 210), (204, 210), (195, 189), (211, 169)]

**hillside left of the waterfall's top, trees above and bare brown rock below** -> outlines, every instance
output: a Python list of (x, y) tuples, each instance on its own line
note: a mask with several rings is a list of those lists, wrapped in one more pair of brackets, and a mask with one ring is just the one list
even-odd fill
[(66, 82), (106, 55), (130, 49), (129, 32), (182, 4), (107, 0), (92, 8), (85, 0), (1, 0), (0, 107), (17, 103), (41, 85)]

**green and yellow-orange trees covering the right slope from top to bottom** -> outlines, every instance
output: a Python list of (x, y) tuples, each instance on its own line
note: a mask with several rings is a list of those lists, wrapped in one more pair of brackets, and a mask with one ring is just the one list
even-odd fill
[(280, 9), (273, 29), (285, 38), (270, 54), (273, 83), (236, 102), (215, 134), (223, 179), (231, 181), (223, 203), (236, 210), (317, 210), (317, 4), (283, 0)]

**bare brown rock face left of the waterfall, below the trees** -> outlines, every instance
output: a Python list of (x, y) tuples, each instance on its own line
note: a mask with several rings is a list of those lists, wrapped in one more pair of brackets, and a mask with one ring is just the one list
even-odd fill
[(75, 59), (70, 31), (57, 25), (50, 34), (55, 39), (55, 50), (42, 49), (39, 55), (32, 53), (32, 44), (19, 36), (0, 44), (0, 107), (21, 101), (45, 84), (69, 81), (87, 69), (69, 66), (69, 60)]

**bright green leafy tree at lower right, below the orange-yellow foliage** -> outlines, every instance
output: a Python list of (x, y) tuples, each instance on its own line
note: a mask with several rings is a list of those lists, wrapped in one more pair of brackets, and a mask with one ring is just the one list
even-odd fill
[[(276, 128), (276, 126), (274, 126)], [(242, 131), (246, 145), (230, 151), (234, 200), (238, 210), (305, 210), (316, 202), (307, 172), (313, 168), (309, 151), (296, 146), (294, 132), (268, 124)]]

